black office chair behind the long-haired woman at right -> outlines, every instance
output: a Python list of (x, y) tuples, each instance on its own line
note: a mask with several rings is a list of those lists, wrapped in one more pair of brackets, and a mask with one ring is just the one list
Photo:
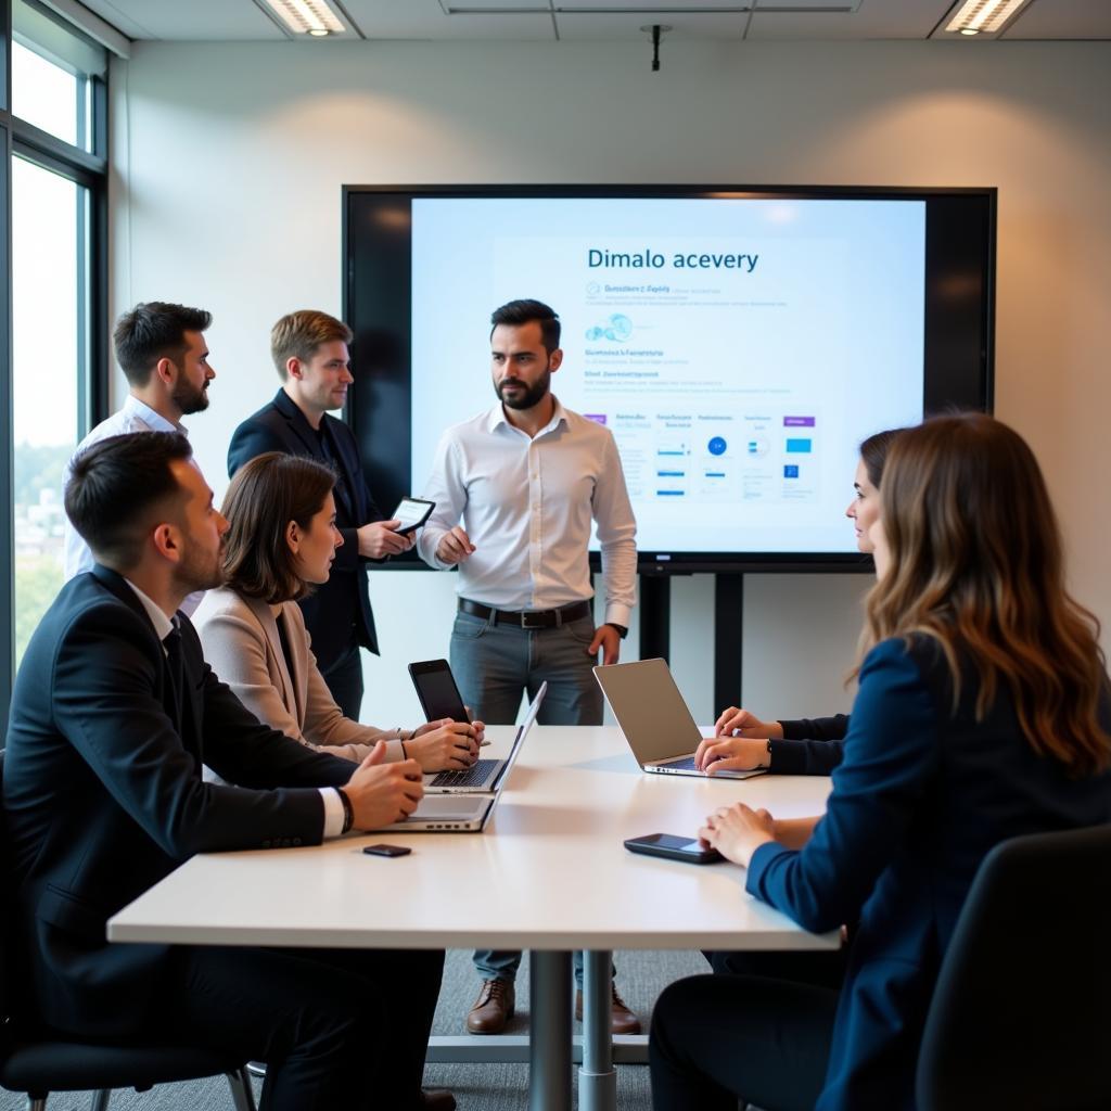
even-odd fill
[(1111, 1108), (1111, 825), (980, 865), (919, 1055), (919, 1111)]

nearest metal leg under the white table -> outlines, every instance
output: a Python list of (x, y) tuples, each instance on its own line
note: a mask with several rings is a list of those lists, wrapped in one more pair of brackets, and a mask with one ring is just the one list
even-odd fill
[(571, 954), (529, 954), (529, 1111), (571, 1111)]

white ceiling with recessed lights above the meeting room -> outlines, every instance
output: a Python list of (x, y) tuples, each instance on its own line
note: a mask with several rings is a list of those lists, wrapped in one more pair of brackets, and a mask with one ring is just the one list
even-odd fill
[[(50, 0), (47, 0), (49, 3)], [(954, 0), (330, 0), (350, 30), (300, 39), (643, 41), (941, 38)], [(291, 38), (262, 0), (82, 0), (130, 39), (267, 42)], [(1030, 0), (1005, 39), (1111, 39), (1111, 0)], [(951, 36), (950, 36), (951, 38)], [(963, 40), (970, 41), (970, 40)], [(974, 41), (974, 40), (971, 40)]]

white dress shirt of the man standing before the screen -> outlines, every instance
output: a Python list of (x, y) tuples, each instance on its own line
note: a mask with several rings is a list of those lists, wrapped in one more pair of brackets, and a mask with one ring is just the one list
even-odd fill
[[(554, 400), (554, 399), (553, 399)], [(424, 497), (436, 502), (417, 540), (426, 563), (462, 523), (474, 551), (459, 564), (460, 597), (501, 610), (549, 610), (593, 595), (598, 524), (605, 621), (628, 625), (637, 591), (637, 522), (613, 434), (556, 401), (536, 437), (500, 404), (444, 432)]]

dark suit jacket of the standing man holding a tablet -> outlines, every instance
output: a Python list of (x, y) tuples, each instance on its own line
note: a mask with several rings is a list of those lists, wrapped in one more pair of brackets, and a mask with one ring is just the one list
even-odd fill
[[(343, 546), (336, 552), (331, 578), (300, 604), (306, 628), (312, 635), (312, 652), (320, 670), (327, 672), (351, 645), (352, 620), (358, 642), (378, 652), (374, 614), (367, 591), (368, 561), (359, 556), (356, 530), (386, 518), (370, 496), (351, 429), (327, 413), (321, 427), (331, 437), (343, 478), (336, 488), (336, 526), (343, 534)], [(267, 451), (311, 456), (319, 462), (328, 462), (312, 426), (284, 390), (279, 390), (273, 401), (236, 429), (228, 448), (228, 477)]]

